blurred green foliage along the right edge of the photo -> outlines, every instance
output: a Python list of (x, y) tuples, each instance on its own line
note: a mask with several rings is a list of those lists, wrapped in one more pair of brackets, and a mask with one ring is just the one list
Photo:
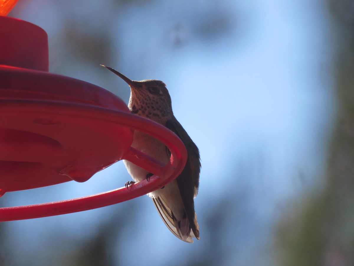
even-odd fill
[(329, 0), (336, 121), (325, 186), (279, 228), (280, 265), (354, 265), (354, 2)]

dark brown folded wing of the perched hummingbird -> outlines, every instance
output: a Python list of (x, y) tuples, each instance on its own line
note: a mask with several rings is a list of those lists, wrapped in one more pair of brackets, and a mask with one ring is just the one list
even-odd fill
[[(188, 159), (183, 171), (176, 178), (179, 193), (181, 194), (184, 210), (187, 215), (190, 227), (196, 239), (199, 240), (199, 225), (197, 216), (194, 211), (194, 197), (198, 194), (199, 188), (199, 173), (200, 173), (200, 156), (197, 146), (183, 129), (176, 118), (169, 120), (165, 125), (168, 129), (174, 132), (187, 148)], [(169, 154), (170, 151), (168, 151)], [(191, 232), (192, 234), (192, 232)]]

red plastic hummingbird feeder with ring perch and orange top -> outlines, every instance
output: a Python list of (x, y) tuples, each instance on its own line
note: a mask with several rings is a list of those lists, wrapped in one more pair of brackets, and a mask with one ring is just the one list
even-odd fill
[[(187, 151), (177, 135), (133, 115), (108, 90), (49, 73), (46, 32), (32, 23), (5, 17), (16, 2), (0, 0), (0, 197), (72, 180), (85, 182), (123, 159), (154, 176), (129, 189), (3, 207), (0, 221), (108, 206), (152, 192), (175, 179), (187, 161)], [(169, 164), (132, 148), (135, 130), (163, 142), (171, 151)]]

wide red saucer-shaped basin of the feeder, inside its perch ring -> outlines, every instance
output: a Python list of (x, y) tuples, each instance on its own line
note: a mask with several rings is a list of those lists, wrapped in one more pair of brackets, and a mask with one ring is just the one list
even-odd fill
[[(104, 116), (90, 117), (90, 106), (130, 113), (107, 90), (6, 66), (0, 66), (0, 80), (0, 169), (12, 177), (2, 178), (3, 192), (87, 181), (129, 149), (130, 128), (107, 122)], [(81, 106), (84, 113), (76, 113), (70, 104)]]

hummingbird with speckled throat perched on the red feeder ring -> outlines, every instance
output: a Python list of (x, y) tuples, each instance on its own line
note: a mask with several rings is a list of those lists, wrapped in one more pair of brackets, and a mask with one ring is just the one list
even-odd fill
[[(103, 65), (102, 65), (103, 66)], [(198, 194), (200, 155), (197, 146), (172, 112), (171, 96), (166, 84), (156, 79), (132, 81), (113, 68), (104, 66), (130, 87), (128, 108), (138, 116), (158, 122), (174, 132), (187, 149), (187, 163), (179, 176), (171, 183), (150, 192), (156, 210), (167, 228), (184, 242), (193, 243), (199, 240), (199, 225), (194, 211), (194, 198)], [(159, 140), (139, 131), (133, 135), (132, 147), (167, 164), (170, 161), (170, 150)], [(126, 187), (135, 182), (148, 179), (152, 173), (124, 160), (125, 167), (134, 181), (127, 182)]]

